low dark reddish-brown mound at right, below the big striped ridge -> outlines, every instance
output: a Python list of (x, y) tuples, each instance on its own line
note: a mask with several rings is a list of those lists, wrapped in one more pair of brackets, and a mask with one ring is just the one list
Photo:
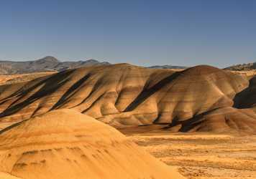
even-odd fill
[[(170, 125), (172, 127), (172, 125)], [(168, 127), (166, 127), (168, 128)], [(256, 133), (256, 114), (251, 109), (221, 107), (204, 112), (183, 123), (180, 132), (244, 132)]]

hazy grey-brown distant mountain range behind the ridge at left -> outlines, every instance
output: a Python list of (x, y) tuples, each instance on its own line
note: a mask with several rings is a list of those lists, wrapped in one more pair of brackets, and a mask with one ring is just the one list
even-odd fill
[(0, 61), (0, 74), (24, 74), (32, 72), (63, 71), (64, 69), (87, 67), (96, 65), (109, 65), (109, 62), (99, 62), (95, 59), (76, 62), (60, 62), (55, 57), (44, 57), (35, 61)]

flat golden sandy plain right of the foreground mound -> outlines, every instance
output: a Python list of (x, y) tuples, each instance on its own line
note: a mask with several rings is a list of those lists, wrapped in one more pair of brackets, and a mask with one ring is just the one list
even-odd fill
[(256, 136), (144, 133), (129, 137), (190, 179), (256, 178)]

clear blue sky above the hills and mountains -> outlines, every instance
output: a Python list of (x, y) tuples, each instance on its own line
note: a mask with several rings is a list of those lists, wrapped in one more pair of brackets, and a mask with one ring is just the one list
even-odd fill
[(254, 0), (2, 0), (0, 59), (111, 63), (256, 61)]

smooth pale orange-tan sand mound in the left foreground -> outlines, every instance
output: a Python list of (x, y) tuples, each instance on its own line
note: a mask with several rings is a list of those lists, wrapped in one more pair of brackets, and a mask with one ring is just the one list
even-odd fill
[(183, 178), (113, 127), (67, 109), (2, 130), (0, 171), (23, 179)]

